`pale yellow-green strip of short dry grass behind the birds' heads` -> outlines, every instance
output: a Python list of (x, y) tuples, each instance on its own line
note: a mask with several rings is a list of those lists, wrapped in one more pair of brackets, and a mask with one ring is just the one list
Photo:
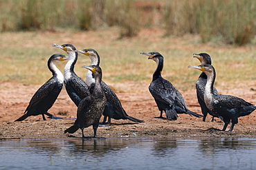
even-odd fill
[[(198, 36), (163, 37), (163, 30), (143, 30), (132, 39), (118, 39), (118, 28), (89, 32), (4, 32), (1, 33), (0, 81), (15, 81), (25, 84), (42, 84), (51, 77), (47, 68), (48, 58), (64, 51), (51, 47), (53, 43), (71, 43), (78, 50), (93, 48), (101, 56), (103, 78), (106, 82), (151, 82), (156, 68), (140, 52), (157, 51), (165, 57), (163, 77), (179, 89), (194, 87), (200, 74), (188, 65), (199, 65), (192, 54), (207, 52), (217, 70), (217, 85), (236, 86), (255, 80), (255, 45), (236, 47), (222, 44), (198, 43)], [(63, 70), (66, 62), (58, 63)], [(75, 65), (77, 75), (85, 78), (86, 70), (81, 65), (90, 65), (89, 58), (79, 56)]]

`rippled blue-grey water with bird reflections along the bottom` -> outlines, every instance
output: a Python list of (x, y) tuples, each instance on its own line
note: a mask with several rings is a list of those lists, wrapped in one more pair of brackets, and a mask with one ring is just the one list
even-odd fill
[(0, 141), (0, 169), (255, 168), (256, 138)]

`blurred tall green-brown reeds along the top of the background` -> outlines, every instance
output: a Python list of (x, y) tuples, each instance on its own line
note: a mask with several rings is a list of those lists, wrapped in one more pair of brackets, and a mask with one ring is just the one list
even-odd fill
[(0, 31), (101, 30), (117, 26), (120, 38), (141, 28), (165, 35), (199, 34), (202, 42), (244, 45), (256, 35), (255, 0), (0, 0)]

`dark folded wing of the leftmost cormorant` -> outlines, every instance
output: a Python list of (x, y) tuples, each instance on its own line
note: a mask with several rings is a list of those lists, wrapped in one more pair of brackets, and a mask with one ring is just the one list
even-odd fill
[(28, 111), (31, 107), (37, 105), (42, 99), (46, 98), (48, 94), (52, 92), (56, 85), (56, 81), (53, 78), (50, 78), (44, 85), (42, 85), (39, 89), (37, 89), (37, 92), (33, 95), (33, 97), (30, 99), (29, 105), (24, 111)]

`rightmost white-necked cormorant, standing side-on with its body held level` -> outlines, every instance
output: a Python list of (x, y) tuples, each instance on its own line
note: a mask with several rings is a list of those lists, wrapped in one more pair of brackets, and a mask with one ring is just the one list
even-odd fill
[(188, 67), (201, 70), (207, 75), (207, 83), (205, 85), (204, 101), (207, 108), (214, 112), (217, 116), (221, 116), (225, 123), (222, 131), (225, 131), (230, 120), (232, 125), (229, 132), (233, 130), (235, 124), (238, 123), (240, 116), (246, 116), (256, 109), (251, 103), (246, 102), (242, 98), (230, 95), (214, 94), (213, 85), (216, 77), (216, 72), (212, 65), (190, 65)]

